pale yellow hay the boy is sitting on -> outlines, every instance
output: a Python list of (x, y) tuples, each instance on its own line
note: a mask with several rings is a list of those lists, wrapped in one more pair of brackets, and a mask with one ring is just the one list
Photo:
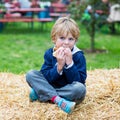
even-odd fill
[(87, 96), (67, 115), (55, 104), (29, 102), (24, 75), (0, 73), (0, 120), (120, 120), (120, 69), (88, 71)]

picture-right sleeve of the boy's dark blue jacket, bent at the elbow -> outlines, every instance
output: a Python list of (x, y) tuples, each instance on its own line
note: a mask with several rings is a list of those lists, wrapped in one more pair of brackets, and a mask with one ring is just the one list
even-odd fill
[(79, 52), (76, 54), (75, 57), (73, 56), (73, 66), (68, 69), (64, 68), (64, 73), (69, 84), (73, 81), (78, 81), (84, 84), (87, 77), (86, 60), (83, 54), (79, 54)]

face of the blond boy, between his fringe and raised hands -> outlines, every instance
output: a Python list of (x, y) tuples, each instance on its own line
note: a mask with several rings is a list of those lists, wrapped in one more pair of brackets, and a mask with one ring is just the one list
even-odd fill
[(73, 38), (72, 34), (68, 34), (67, 36), (57, 36), (55, 45), (56, 47), (64, 47), (72, 49), (75, 45), (75, 38)]

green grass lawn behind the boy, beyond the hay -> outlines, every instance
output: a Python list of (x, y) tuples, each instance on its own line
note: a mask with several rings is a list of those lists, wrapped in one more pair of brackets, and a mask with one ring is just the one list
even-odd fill
[[(0, 33), (0, 71), (26, 73), (30, 69), (39, 70), (46, 49), (53, 46), (50, 38), (52, 24), (45, 30), (39, 24), (31, 30), (26, 23), (11, 23)], [(81, 36), (77, 45), (80, 49), (90, 48), (90, 38), (80, 25)], [(120, 68), (120, 35), (109, 34), (106, 30), (96, 32), (95, 48), (106, 49), (106, 53), (85, 53), (87, 69)]]

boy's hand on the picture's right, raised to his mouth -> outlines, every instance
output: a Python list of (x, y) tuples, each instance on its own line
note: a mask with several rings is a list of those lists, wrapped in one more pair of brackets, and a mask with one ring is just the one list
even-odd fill
[(72, 60), (72, 52), (71, 52), (70, 48), (65, 48), (64, 53), (65, 53), (65, 63), (67, 65), (70, 65), (73, 61)]

